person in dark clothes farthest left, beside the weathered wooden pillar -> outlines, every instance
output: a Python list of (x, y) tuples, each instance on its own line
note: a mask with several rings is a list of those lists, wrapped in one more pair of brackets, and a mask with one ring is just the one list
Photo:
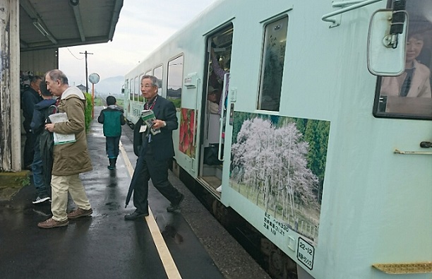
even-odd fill
[(33, 76), (30, 79), (30, 87), (27, 88), (21, 96), (21, 109), (23, 109), (23, 126), (25, 131), (25, 146), (23, 155), (25, 170), (32, 170), (33, 156), (35, 153), (35, 150), (33, 149), (35, 146), (35, 135), (32, 133), (30, 123), (32, 123), (35, 105), (42, 101), (42, 97), (39, 95), (40, 81), (42, 81), (42, 77)]

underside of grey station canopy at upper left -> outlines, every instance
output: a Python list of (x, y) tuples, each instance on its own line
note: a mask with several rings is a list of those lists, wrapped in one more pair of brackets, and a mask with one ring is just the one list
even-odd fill
[(108, 42), (124, 0), (19, 0), (20, 51)]

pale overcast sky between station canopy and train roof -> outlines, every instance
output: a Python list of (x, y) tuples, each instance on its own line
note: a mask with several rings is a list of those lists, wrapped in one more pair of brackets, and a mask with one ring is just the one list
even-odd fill
[[(217, 0), (124, 0), (112, 42), (59, 49), (59, 69), (70, 85), (85, 85), (85, 55), (88, 74), (101, 80), (124, 76), (174, 32), (184, 27)], [(90, 86), (89, 82), (89, 87)]]

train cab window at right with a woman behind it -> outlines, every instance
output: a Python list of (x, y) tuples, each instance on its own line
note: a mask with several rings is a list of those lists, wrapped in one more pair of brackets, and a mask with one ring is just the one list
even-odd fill
[(373, 114), (376, 117), (432, 119), (432, 20), (429, 1), (407, 1), (409, 14), (405, 71), (378, 78)]

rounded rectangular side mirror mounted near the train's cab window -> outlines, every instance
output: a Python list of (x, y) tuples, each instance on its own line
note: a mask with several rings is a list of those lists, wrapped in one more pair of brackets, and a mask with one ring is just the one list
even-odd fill
[[(395, 23), (395, 18), (400, 22)], [(404, 72), (406, 18), (406, 11), (378, 10), (373, 13), (368, 32), (368, 70), (373, 75), (399, 76)], [(393, 30), (395, 25), (396, 32)]]

